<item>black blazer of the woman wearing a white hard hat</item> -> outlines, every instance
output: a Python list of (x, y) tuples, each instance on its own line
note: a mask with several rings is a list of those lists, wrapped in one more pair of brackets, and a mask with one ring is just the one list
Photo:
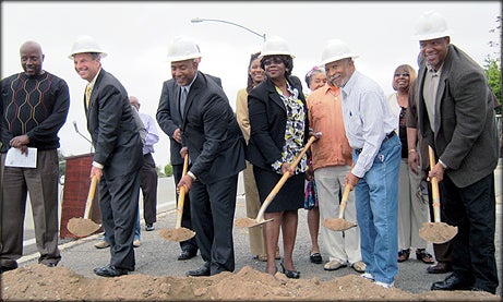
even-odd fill
[[(308, 106), (302, 94), (302, 84), (296, 76), (288, 78), (290, 85), (299, 90), (304, 105), (304, 144), (309, 136)], [(274, 83), (266, 78), (248, 95), (251, 134), (247, 148), (247, 159), (254, 166), (271, 170), (271, 165), (282, 158), (285, 145), (287, 111)]]

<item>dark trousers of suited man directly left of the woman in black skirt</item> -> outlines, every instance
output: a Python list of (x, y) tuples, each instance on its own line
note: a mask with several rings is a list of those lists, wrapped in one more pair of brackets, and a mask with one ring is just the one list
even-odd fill
[(203, 184), (194, 181), (190, 190), (192, 226), (209, 274), (233, 271), (232, 240), (238, 174)]

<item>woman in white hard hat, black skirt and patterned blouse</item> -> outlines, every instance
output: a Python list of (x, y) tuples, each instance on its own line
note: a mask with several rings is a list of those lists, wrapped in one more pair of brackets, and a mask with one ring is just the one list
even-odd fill
[(264, 218), (274, 219), (263, 225), (267, 253), (265, 271), (271, 275), (277, 271), (275, 253), (282, 230), (283, 273), (288, 278), (299, 278), (300, 271), (295, 268), (292, 252), (298, 209), (303, 207), (307, 156), (295, 168), (290, 168), (290, 164), (309, 138), (308, 107), (302, 83), (291, 75), (294, 55), (286, 41), (274, 36), (267, 38), (259, 58), (266, 80), (248, 95), (251, 134), (247, 155), (253, 165), (261, 203), (284, 173), (291, 173), (265, 209)]

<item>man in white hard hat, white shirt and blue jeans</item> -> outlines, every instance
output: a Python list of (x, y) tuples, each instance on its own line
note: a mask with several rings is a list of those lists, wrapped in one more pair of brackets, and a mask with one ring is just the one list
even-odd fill
[(362, 277), (391, 288), (398, 273), (396, 251), (400, 140), (383, 89), (358, 72), (346, 43), (330, 40), (322, 52), (328, 81), (340, 88), (344, 126), (354, 167), (345, 185), (355, 188)]

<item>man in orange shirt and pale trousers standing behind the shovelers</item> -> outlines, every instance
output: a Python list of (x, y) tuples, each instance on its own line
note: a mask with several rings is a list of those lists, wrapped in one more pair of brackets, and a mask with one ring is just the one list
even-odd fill
[[(314, 180), (316, 181), (320, 203), (320, 219), (337, 218), (344, 181), (349, 172), (351, 147), (343, 121), (339, 88), (330, 81), (312, 92), (308, 99), (309, 124), (314, 132), (321, 132), (320, 138), (311, 146)], [(349, 194), (345, 217), (356, 221), (354, 194)], [(361, 261), (360, 230), (358, 227), (344, 232), (322, 228), (321, 239), (328, 254), (325, 270), (336, 270), (350, 266), (358, 273), (366, 271)]]

